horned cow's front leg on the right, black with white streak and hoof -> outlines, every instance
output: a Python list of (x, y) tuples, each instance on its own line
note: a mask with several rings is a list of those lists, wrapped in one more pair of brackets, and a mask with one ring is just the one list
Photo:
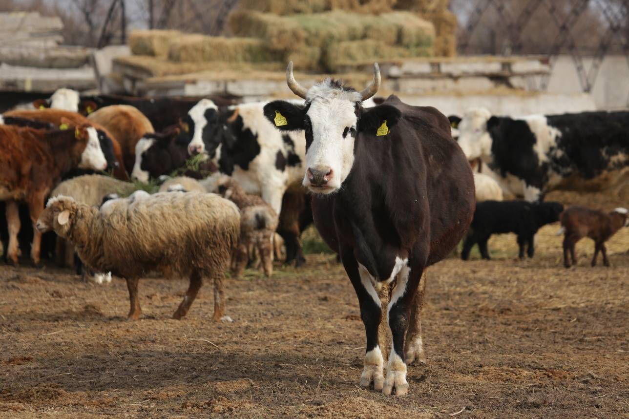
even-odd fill
[(404, 338), (408, 328), (408, 318), (415, 293), (417, 291), (423, 269), (419, 267), (413, 274), (407, 265), (399, 271), (395, 288), (391, 293), (388, 315), (391, 328), (392, 345), (389, 362), (387, 363), (387, 377), (384, 380), (382, 393), (389, 395), (395, 390), (398, 396), (408, 393), (406, 382), (406, 362), (404, 362)]

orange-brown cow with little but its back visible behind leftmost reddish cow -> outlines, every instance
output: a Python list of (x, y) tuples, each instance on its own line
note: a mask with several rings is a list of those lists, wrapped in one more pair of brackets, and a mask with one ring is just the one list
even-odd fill
[(123, 154), (118, 139), (102, 125), (87, 120), (85, 116), (76, 112), (64, 111), (62, 109), (16, 109), (3, 114), (4, 117), (24, 118), (33, 121), (43, 121), (52, 123), (55, 126), (61, 125), (61, 119), (65, 118), (74, 125), (91, 125), (96, 128), (92, 133), (94, 138), (100, 143), (100, 147), (105, 154), (109, 167), (113, 167), (113, 174), (117, 179), (128, 181), (129, 176), (125, 172)]

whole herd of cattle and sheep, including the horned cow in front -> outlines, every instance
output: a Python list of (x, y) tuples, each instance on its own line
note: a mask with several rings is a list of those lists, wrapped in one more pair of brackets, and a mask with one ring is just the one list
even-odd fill
[[(521, 258), (525, 250), (533, 257), (537, 230), (560, 221), (566, 267), (576, 263), (582, 237), (596, 244), (592, 264), (602, 252), (608, 265), (604, 242), (629, 225), (624, 208), (543, 202), (558, 187), (622, 176), (628, 112), (507, 118), (472, 109), (448, 121), (396, 96), (374, 101), (377, 64), (362, 91), (330, 79), (306, 89), (292, 62), (286, 77), (301, 100), (238, 104), (59, 89), (4, 111), (6, 259), (17, 265), (31, 241), (39, 264), (52, 253), (55, 235), (43, 234), (53, 230), (58, 262), (84, 263), (97, 281), (112, 273), (126, 279), (131, 319), (140, 316), (138, 279), (160, 271), (190, 279), (175, 318), (186, 315), (206, 277), (214, 319), (230, 320), (224, 272), (238, 275), (257, 249), (270, 276), (276, 232), (286, 262), (303, 264), (301, 232), (315, 223), (359, 298), (367, 335), (360, 384), (401, 395), (406, 364), (426, 360), (425, 269), (462, 239), (462, 259), (475, 244), (489, 259), (487, 240), (506, 232), (516, 233)], [(162, 184), (160, 192), (136, 191), (147, 184)], [(504, 194), (525, 200), (503, 201)], [(386, 378), (378, 341), (384, 289), (392, 333)]]

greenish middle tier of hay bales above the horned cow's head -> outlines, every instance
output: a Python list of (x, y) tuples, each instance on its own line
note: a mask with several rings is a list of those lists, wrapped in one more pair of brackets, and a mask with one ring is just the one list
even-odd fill
[(269, 50), (299, 69), (328, 72), (352, 62), (430, 56), (435, 38), (429, 22), (406, 11), (279, 16), (237, 10), (228, 23), (235, 35), (264, 40)]

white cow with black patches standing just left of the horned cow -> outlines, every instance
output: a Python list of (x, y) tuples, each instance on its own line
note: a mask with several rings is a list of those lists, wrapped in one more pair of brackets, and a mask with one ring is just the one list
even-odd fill
[(306, 155), (303, 133), (280, 133), (264, 118), (266, 103), (218, 108), (202, 99), (182, 118), (190, 154), (207, 154), (221, 174), (258, 194), (276, 213), (284, 191), (301, 182)]

